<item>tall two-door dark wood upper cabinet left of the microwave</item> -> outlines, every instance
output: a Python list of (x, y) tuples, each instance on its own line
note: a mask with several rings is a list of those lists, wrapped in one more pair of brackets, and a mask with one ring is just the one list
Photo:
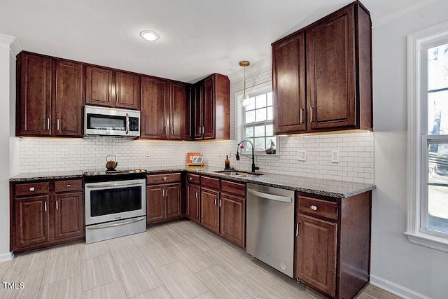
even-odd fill
[(22, 52), (17, 136), (82, 137), (83, 64)]

